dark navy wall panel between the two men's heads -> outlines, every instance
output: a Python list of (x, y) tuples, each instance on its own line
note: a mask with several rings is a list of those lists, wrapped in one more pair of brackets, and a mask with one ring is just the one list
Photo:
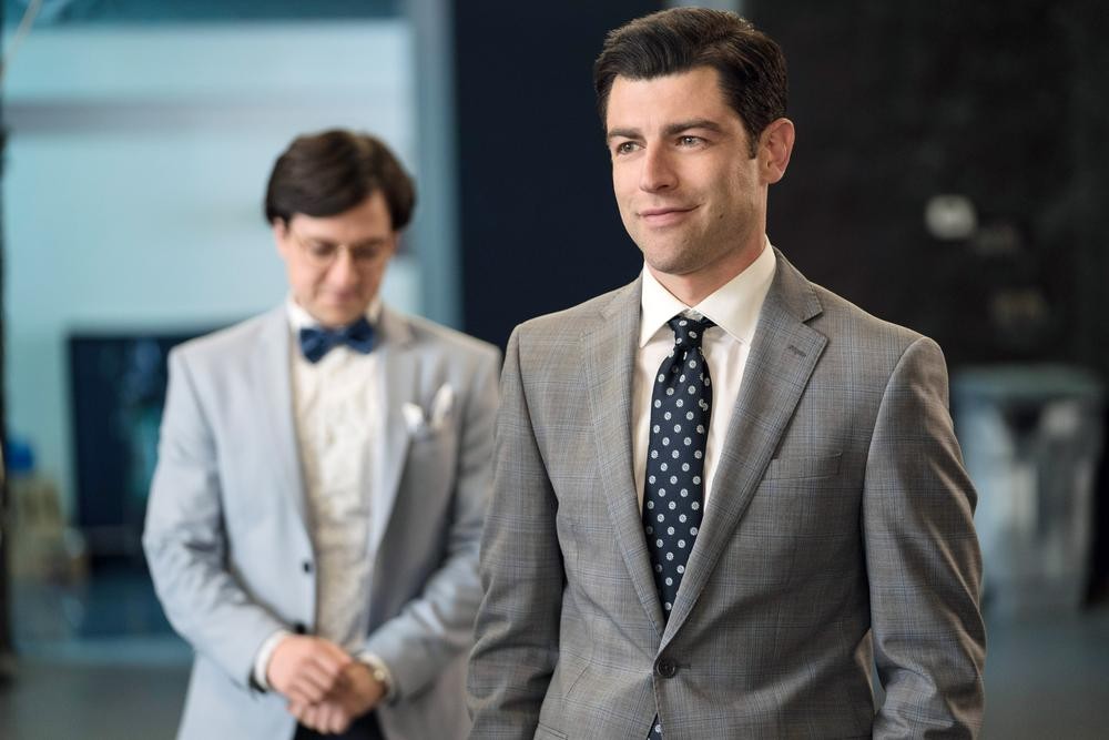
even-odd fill
[(456, 94), (467, 332), (512, 326), (632, 280), (596, 113), (606, 33), (659, 3), (457, 2)]

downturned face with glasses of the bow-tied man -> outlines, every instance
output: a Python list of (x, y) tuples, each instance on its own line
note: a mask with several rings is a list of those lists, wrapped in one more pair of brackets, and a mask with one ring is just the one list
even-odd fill
[(338, 215), (297, 213), (287, 223), (276, 221), (273, 229), (293, 297), (332, 328), (366, 313), (397, 250), (393, 219), (379, 191)]

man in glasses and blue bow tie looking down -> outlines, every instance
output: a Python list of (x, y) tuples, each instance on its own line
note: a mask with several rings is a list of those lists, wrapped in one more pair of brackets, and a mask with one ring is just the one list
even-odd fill
[(288, 298), (170, 355), (143, 544), (196, 651), (181, 738), (468, 731), (500, 362), (381, 305), (414, 202), (373, 136), (296, 139), (266, 194)]

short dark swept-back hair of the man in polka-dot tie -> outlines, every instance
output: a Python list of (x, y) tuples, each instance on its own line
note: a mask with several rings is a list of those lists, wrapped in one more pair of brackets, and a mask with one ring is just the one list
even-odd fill
[(723, 10), (673, 8), (611, 31), (593, 64), (601, 124), (618, 77), (650, 80), (711, 67), (746, 129), (754, 156), (759, 135), (785, 115), (788, 80), (782, 49), (751, 21)]

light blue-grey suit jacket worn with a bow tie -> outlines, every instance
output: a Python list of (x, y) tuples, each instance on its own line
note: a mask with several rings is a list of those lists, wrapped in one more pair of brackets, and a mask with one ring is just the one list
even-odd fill
[[(363, 647), (396, 685), (396, 700), (377, 710), (389, 740), (465, 737), (499, 353), (388, 308), (378, 333), (386, 416), (366, 450), (376, 558)], [(444, 384), (452, 416), (414, 428), (405, 402), (427, 409)], [(284, 306), (171, 353), (143, 545), (165, 612), (196, 651), (180, 738), (294, 733), (285, 699), (252, 688), (251, 676), (275, 630), (314, 629), (295, 434)]]

